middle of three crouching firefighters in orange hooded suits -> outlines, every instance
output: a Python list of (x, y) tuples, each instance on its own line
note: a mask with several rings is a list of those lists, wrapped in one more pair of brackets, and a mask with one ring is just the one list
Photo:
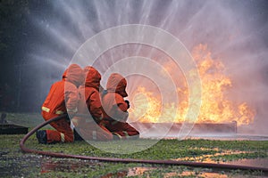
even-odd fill
[(113, 139), (113, 134), (104, 125), (99, 125), (102, 118), (102, 105), (100, 100), (99, 72), (90, 66), (84, 69), (86, 82), (80, 85), (80, 101), (77, 116), (71, 119), (74, 129), (86, 141), (107, 141)]

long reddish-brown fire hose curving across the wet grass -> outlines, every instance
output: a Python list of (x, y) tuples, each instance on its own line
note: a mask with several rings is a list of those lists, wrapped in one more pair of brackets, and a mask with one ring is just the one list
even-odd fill
[(24, 135), (21, 139), (20, 147), (21, 150), (27, 153), (34, 153), (44, 156), (50, 156), (54, 158), (79, 158), (85, 160), (97, 160), (103, 162), (114, 162), (114, 163), (142, 163), (142, 164), (152, 164), (152, 165), (165, 165), (165, 166), (193, 166), (193, 167), (206, 167), (206, 168), (218, 168), (218, 169), (239, 169), (239, 170), (251, 170), (251, 171), (262, 171), (263, 173), (268, 173), (268, 168), (260, 166), (239, 166), (230, 164), (215, 164), (215, 163), (202, 163), (202, 162), (190, 162), (190, 161), (176, 161), (176, 160), (148, 160), (148, 159), (136, 159), (136, 158), (101, 158), (101, 157), (88, 157), (80, 155), (71, 155), (64, 153), (56, 153), (50, 151), (42, 150), (31, 150), (25, 147), (24, 143), (29, 139), (32, 134), (35, 134), (38, 129), (51, 122), (59, 120), (66, 117), (67, 114), (61, 115), (59, 117), (54, 117), (46, 122), (33, 128), (28, 134)]

